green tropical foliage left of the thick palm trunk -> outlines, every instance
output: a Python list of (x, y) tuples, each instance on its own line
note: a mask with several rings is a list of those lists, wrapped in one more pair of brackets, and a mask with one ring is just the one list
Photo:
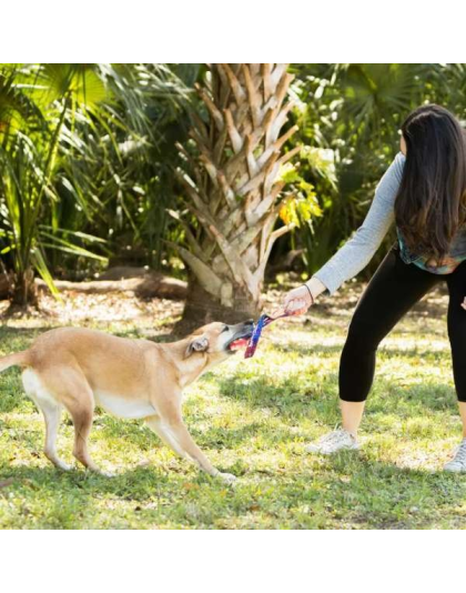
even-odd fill
[[(50, 267), (59, 272), (70, 255), (77, 269), (141, 242), (150, 260), (161, 251), (154, 213), (166, 203), (154, 188), (169, 177), (173, 145), (163, 132), (176, 122), (180, 138), (188, 100), (163, 64), (2, 64), (2, 254), (13, 302), (36, 302), (34, 270), (57, 292)], [(171, 189), (163, 183), (165, 202)]]

